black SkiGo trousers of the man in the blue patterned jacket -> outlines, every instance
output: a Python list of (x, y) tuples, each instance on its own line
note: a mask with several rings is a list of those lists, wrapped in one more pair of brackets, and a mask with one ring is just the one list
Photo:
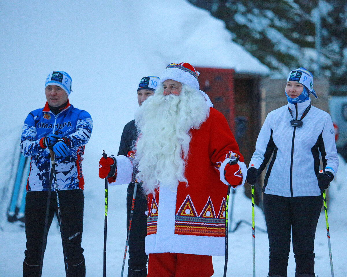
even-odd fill
[[(83, 248), (81, 247), (84, 208), (83, 190), (59, 190), (58, 195), (69, 277), (84, 277), (85, 262)], [(26, 194), (24, 277), (39, 276), (47, 196), (47, 191), (28, 191)], [(57, 196), (56, 192), (52, 191), (48, 213), (48, 230), (56, 212)], [(64, 259), (62, 255), (56, 258)], [(45, 267), (45, 263), (43, 263), (43, 267)], [(46, 267), (49, 267), (49, 265), (46, 264)], [(53, 274), (53, 272), (51, 273)]]

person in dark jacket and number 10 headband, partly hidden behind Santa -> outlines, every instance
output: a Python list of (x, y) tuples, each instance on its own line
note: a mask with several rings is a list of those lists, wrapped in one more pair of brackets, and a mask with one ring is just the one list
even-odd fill
[[(151, 95), (154, 94), (159, 84), (159, 78), (154, 76), (143, 77), (137, 89), (138, 105)], [(137, 129), (135, 120), (128, 122), (120, 139), (118, 155), (127, 155), (133, 149), (137, 140)], [(134, 194), (134, 183), (128, 186), (127, 194), (127, 230), (129, 228), (130, 210)], [(134, 205), (134, 214), (132, 219), (132, 227), (129, 237), (129, 261), (128, 261), (128, 277), (145, 277), (147, 276), (146, 263), (148, 256), (145, 252), (145, 236), (147, 233), (147, 199), (143, 193), (141, 185), (137, 186), (136, 201)]]

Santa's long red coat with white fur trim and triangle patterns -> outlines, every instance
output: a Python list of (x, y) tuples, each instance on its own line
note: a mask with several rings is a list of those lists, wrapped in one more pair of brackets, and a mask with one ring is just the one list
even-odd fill
[[(224, 168), (231, 156), (240, 156), (243, 178), (239, 186), (245, 182), (247, 168), (227, 120), (216, 109), (210, 108), (206, 121), (190, 133), (185, 169), (188, 185), (179, 182), (177, 191), (159, 186), (155, 195), (148, 196), (147, 254), (225, 254), (228, 183)], [(130, 181), (131, 163), (123, 157), (117, 156), (117, 180), (113, 184)]]

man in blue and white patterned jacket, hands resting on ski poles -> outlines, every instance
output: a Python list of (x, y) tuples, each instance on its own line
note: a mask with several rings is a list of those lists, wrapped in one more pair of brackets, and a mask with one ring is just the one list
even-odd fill
[[(84, 208), (82, 160), (85, 144), (92, 133), (92, 118), (85, 110), (70, 105), (71, 82), (66, 72), (51, 72), (45, 82), (47, 102), (44, 108), (31, 111), (24, 121), (20, 149), (25, 157), (31, 157), (26, 186), (24, 277), (39, 276), (48, 190), (52, 185), (49, 148), (55, 154), (69, 276), (85, 276), (81, 247)], [(56, 193), (52, 193), (48, 229), (56, 211)]]

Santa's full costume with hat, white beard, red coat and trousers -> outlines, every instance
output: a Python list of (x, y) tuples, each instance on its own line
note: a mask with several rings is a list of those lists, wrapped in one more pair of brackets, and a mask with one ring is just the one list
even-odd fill
[[(167, 80), (182, 84), (179, 95), (163, 95)], [(135, 114), (141, 135), (135, 152), (115, 157), (111, 185), (143, 181), (147, 276), (211, 276), (212, 255), (225, 254), (228, 181), (243, 186), (247, 169), (192, 65), (169, 64), (158, 87)], [(235, 156), (239, 161), (230, 166)]]

